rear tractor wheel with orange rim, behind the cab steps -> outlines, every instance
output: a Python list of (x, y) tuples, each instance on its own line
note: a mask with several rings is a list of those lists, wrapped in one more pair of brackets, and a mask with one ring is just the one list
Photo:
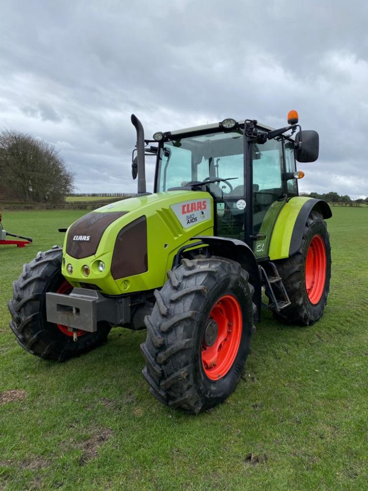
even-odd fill
[(274, 263), (291, 304), (273, 316), (287, 324), (314, 324), (327, 303), (331, 277), (330, 236), (320, 213), (309, 215), (298, 252)]

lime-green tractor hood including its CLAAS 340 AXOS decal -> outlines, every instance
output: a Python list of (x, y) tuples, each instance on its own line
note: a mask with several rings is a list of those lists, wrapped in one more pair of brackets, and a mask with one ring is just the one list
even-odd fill
[[(104, 220), (96, 219), (98, 214), (108, 218), (110, 213), (114, 214), (114, 219), (109, 223), (109, 220), (104, 218), (108, 225), (103, 234), (97, 226), (94, 229), (93, 224), (88, 229), (81, 228), (79, 231), (79, 221), (69, 227), (64, 242), (65, 261), (63, 261), (62, 273), (72, 285), (80, 286), (80, 283), (83, 283), (87, 287), (88, 284), (94, 284), (109, 295), (159, 288), (163, 286), (166, 272), (172, 267), (174, 257), (181, 247), (190, 244), (192, 237), (213, 235), (213, 200), (210, 194), (204, 191), (168, 191), (136, 196), (105, 205), (88, 215), (91, 215), (93, 223), (103, 223)], [(134, 226), (132, 222), (139, 222), (138, 219), (142, 217), (146, 220), (147, 242), (142, 240), (141, 234), (131, 233), (131, 227)], [(86, 220), (86, 217), (82, 217), (81, 223), (83, 218), (84, 223), (88, 221), (88, 218)], [(130, 233), (126, 237), (131, 243), (127, 244), (124, 243), (123, 229), (130, 224), (130, 228), (127, 228)], [(85, 230), (88, 230), (88, 234), (84, 233)], [(96, 236), (99, 240), (95, 239)], [(117, 237), (120, 237), (118, 242), (116, 242)], [(73, 248), (71, 244), (79, 240), (81, 244)], [(93, 240), (98, 244), (91, 248), (90, 241)], [(146, 254), (146, 257), (140, 258), (139, 262), (148, 264), (148, 270), (114, 279), (111, 274), (113, 256), (119, 259), (120, 254), (119, 250), (114, 252), (115, 243), (117, 247), (119, 244), (124, 244), (121, 248), (124, 261), (120, 260), (120, 264), (138, 262), (139, 254)], [(79, 251), (79, 258), (73, 257), (71, 253), (68, 254), (74, 250)], [(85, 256), (83, 250), (95, 250), (95, 253)], [(105, 263), (103, 272), (98, 269), (100, 261)], [(67, 271), (68, 264), (73, 267), (72, 274)], [(83, 273), (84, 266), (88, 266), (90, 270), (88, 276)], [(134, 270), (134, 267), (127, 267), (127, 271), (131, 270)]]

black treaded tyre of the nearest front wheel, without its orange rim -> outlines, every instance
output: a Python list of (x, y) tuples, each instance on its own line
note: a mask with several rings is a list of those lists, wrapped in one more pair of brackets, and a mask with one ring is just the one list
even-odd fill
[[(147, 338), (141, 344), (146, 366), (142, 373), (150, 385), (150, 392), (158, 401), (188, 413), (198, 413), (222, 402), (234, 390), (240, 378), (246, 355), (250, 352), (250, 337), (255, 330), (255, 305), (251, 293), (254, 288), (248, 283), (248, 273), (237, 262), (219, 257), (183, 259), (181, 266), (169, 271), (167, 276), (168, 280), (159, 295), (155, 294), (158, 301), (146, 318)], [(247, 312), (246, 354), (242, 355), (241, 368), (237, 366), (232, 376), (229, 391), (217, 393), (215, 398), (211, 398), (209, 391), (197, 379), (198, 366), (202, 363), (197, 355), (197, 330), (200, 321), (203, 321), (204, 302), (209, 302), (207, 297), (218, 297), (226, 288), (237, 285), (240, 277), (247, 291), (244, 307)]]

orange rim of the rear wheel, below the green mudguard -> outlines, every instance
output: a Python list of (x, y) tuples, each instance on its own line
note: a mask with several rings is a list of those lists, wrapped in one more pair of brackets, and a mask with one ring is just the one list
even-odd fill
[(308, 247), (305, 262), (305, 287), (314, 305), (321, 300), (326, 281), (326, 248), (320, 235), (315, 235)]

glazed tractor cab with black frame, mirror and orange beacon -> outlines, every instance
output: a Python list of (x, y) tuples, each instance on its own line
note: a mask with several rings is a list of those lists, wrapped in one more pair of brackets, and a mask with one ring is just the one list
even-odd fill
[[(299, 149), (301, 132), (295, 143), (291, 135), (297, 115), (293, 116), (292, 125), (280, 130), (257, 121), (225, 119), (155, 133), (154, 191), (208, 191), (214, 202), (214, 235), (241, 240), (257, 259), (267, 257), (275, 221), (286, 201), (298, 195), (297, 179), (304, 175), (296, 172), (294, 149)], [(284, 135), (287, 131), (289, 136)], [(314, 142), (304, 162), (318, 155), (318, 135), (312, 133)]]

